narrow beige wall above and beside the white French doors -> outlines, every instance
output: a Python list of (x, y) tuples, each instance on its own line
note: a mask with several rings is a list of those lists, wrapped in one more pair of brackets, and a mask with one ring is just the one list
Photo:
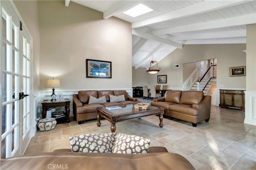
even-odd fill
[(39, 19), (38, 19), (38, 1), (34, 0), (15, 0), (14, 4), (18, 9), (24, 24), (33, 38), (33, 91), (38, 92), (39, 87), (39, 51), (40, 51), (40, 38), (39, 38)]

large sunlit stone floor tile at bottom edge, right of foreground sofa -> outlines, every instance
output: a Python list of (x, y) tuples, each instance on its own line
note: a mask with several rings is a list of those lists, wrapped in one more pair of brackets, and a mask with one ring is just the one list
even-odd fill
[(191, 156), (200, 163), (212, 169), (229, 169), (236, 162), (237, 158), (221, 152), (218, 149), (206, 146)]

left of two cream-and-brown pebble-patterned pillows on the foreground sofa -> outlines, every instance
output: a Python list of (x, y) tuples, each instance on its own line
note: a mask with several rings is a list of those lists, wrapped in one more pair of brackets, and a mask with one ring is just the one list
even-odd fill
[(111, 152), (115, 133), (82, 134), (69, 138), (72, 152)]

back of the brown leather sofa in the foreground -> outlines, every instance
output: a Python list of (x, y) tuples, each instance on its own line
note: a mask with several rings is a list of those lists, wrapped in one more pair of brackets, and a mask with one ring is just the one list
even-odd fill
[(70, 149), (1, 159), (3, 170), (194, 170), (183, 156), (164, 147), (150, 147), (146, 154), (81, 153)]

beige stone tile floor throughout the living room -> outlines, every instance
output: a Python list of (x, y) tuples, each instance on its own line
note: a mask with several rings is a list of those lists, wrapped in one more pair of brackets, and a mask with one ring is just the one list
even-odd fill
[[(150, 103), (150, 100), (142, 100)], [(78, 134), (110, 133), (110, 123), (102, 120), (78, 125), (76, 121), (57, 124), (54, 130), (37, 132), (25, 154), (70, 148), (68, 138)], [(116, 123), (116, 132), (150, 138), (150, 146), (164, 146), (187, 158), (197, 170), (256, 170), (256, 127), (244, 124), (244, 112), (212, 105), (209, 122), (197, 127), (178, 119), (157, 116)]]

